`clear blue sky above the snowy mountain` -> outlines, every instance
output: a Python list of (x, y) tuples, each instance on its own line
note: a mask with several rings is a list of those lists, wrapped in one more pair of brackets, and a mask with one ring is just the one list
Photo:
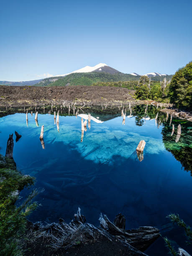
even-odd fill
[(0, 80), (102, 62), (173, 74), (192, 60), (192, 0), (1, 0)]

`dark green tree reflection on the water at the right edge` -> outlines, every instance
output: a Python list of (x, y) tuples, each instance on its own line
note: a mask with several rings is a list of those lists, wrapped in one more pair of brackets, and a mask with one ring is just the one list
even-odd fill
[[(169, 123), (169, 122), (168, 122)], [(163, 142), (167, 151), (171, 152), (175, 159), (179, 161), (184, 167), (185, 171), (191, 171), (192, 176), (192, 148), (191, 148), (191, 135), (190, 135), (190, 122), (172, 120), (174, 126), (177, 127), (180, 123), (182, 126), (182, 134), (179, 138), (179, 141), (176, 143), (175, 139), (177, 137), (176, 132), (173, 136), (172, 133), (172, 125), (169, 126), (168, 123), (164, 123), (164, 127), (162, 129)]]

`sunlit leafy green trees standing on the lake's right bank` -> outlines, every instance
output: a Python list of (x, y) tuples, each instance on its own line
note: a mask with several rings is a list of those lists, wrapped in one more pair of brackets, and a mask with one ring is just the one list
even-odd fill
[(140, 77), (136, 97), (141, 100), (170, 102), (177, 108), (192, 109), (192, 61), (178, 69), (169, 81), (164, 78), (160, 83), (151, 84), (148, 77)]

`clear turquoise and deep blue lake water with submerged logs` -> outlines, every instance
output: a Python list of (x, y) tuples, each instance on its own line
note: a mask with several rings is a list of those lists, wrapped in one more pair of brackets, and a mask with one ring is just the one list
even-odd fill
[[(83, 142), (80, 116), (60, 116), (59, 132), (49, 114), (38, 114), (38, 127), (34, 114), (28, 114), (28, 126), (25, 113), (0, 118), (0, 154), (5, 155), (10, 133), (21, 134), (14, 142), (13, 158), (21, 172), (36, 177), (35, 187), (45, 189), (36, 197), (42, 206), (30, 219), (50, 223), (63, 218), (68, 222), (80, 207), (87, 221), (95, 225), (100, 212), (110, 220), (122, 212), (126, 228), (162, 228), (168, 223), (166, 215), (176, 212), (192, 225), (191, 123), (181, 123), (182, 136), (176, 143), (176, 135), (170, 136), (172, 125), (163, 121), (166, 116), (159, 114), (162, 123), (158, 129), (153, 119), (156, 110), (149, 109), (144, 117), (142, 109), (135, 108), (132, 117), (127, 113), (125, 125), (120, 111), (92, 113), (95, 119), (84, 132)], [(172, 123), (177, 127), (179, 121), (173, 119)], [(43, 124), (45, 149), (39, 140)], [(136, 153), (141, 140), (146, 141), (143, 161)], [(28, 189), (21, 196), (26, 193)], [(172, 228), (166, 226), (164, 232), (184, 244)], [(148, 249), (151, 255), (153, 248)], [(156, 255), (166, 253), (161, 250)]]

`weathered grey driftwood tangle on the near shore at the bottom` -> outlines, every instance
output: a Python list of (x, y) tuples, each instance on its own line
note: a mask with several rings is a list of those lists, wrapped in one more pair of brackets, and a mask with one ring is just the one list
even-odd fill
[[(34, 238), (49, 239), (49, 244), (55, 248), (69, 248), (77, 245), (77, 241), (84, 246), (87, 243), (96, 242), (101, 244), (103, 240), (107, 240), (109, 243), (115, 243), (121, 246), (126, 251), (125, 255), (145, 255), (142, 251), (145, 251), (148, 246), (151, 245), (158, 237), (159, 230), (154, 227), (140, 227), (133, 230), (125, 230), (125, 217), (123, 215), (117, 215), (115, 220), (117, 225), (123, 228), (117, 227), (110, 222), (106, 215), (100, 215), (100, 226), (97, 228), (92, 224), (85, 223), (86, 220), (83, 215), (80, 214), (80, 209), (77, 214), (74, 215), (74, 220), (69, 224), (64, 222), (63, 219), (59, 219), (59, 223), (51, 223), (46, 226), (40, 224), (31, 225), (31, 230), (35, 230)], [(122, 220), (122, 221), (121, 221)]]

